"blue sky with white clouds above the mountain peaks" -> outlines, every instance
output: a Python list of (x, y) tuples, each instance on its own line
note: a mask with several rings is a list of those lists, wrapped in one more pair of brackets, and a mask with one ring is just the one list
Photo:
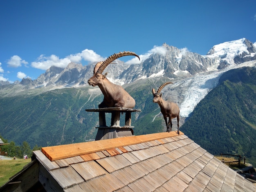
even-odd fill
[(163, 43), (205, 55), (240, 38), (256, 42), (255, 0), (3, 0), (0, 80), (34, 80), (52, 65), (120, 51), (143, 56)]

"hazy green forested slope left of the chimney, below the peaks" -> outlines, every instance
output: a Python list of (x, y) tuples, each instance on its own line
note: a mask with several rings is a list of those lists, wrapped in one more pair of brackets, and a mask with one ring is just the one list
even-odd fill
[[(81, 141), (88, 130), (90, 114), (81, 107), (88, 101), (88, 89), (55, 89), (39, 95), (0, 99), (1, 134), (15, 143), (31, 146)], [(90, 105), (90, 104), (88, 104)], [(88, 121), (83, 121), (85, 116)]]

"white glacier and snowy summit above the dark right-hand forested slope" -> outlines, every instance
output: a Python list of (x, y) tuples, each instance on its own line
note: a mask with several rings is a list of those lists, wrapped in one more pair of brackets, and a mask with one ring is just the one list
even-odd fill
[[(220, 76), (231, 69), (240, 67), (255, 67), (255, 61), (248, 61), (241, 64), (234, 63), (234, 57), (246, 52), (247, 46), (244, 44), (245, 38), (241, 38), (234, 41), (223, 42), (212, 47), (209, 51), (213, 52), (211, 55), (203, 57), (219, 57), (222, 60), (226, 60), (230, 66), (225, 69), (217, 69), (218, 65), (208, 68), (207, 72), (196, 74), (191, 78), (181, 80), (176, 83), (176, 86), (180, 86), (181, 96), (184, 100), (180, 103), (180, 116), (188, 117), (193, 112), (195, 106), (218, 84)], [(255, 46), (256, 43), (254, 43)], [(254, 56), (251, 54), (250, 56)], [(175, 87), (174, 87), (175, 88)]]

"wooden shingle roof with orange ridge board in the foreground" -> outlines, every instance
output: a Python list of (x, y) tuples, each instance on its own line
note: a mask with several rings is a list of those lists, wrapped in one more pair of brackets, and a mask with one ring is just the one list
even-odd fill
[(33, 153), (43, 172), (39, 180), (49, 191), (256, 191), (182, 132), (43, 147)]

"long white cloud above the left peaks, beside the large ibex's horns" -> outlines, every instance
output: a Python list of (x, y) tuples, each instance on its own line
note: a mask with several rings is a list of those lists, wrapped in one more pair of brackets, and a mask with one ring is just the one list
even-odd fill
[(92, 62), (98, 62), (104, 60), (100, 55), (96, 54), (90, 49), (85, 49), (81, 53), (71, 54), (65, 58), (59, 58), (56, 55), (51, 55), (49, 57), (40, 55), (36, 61), (31, 63), (31, 66), (38, 69), (49, 69), (51, 66), (65, 68), (71, 62), (79, 63), (81, 60)]

